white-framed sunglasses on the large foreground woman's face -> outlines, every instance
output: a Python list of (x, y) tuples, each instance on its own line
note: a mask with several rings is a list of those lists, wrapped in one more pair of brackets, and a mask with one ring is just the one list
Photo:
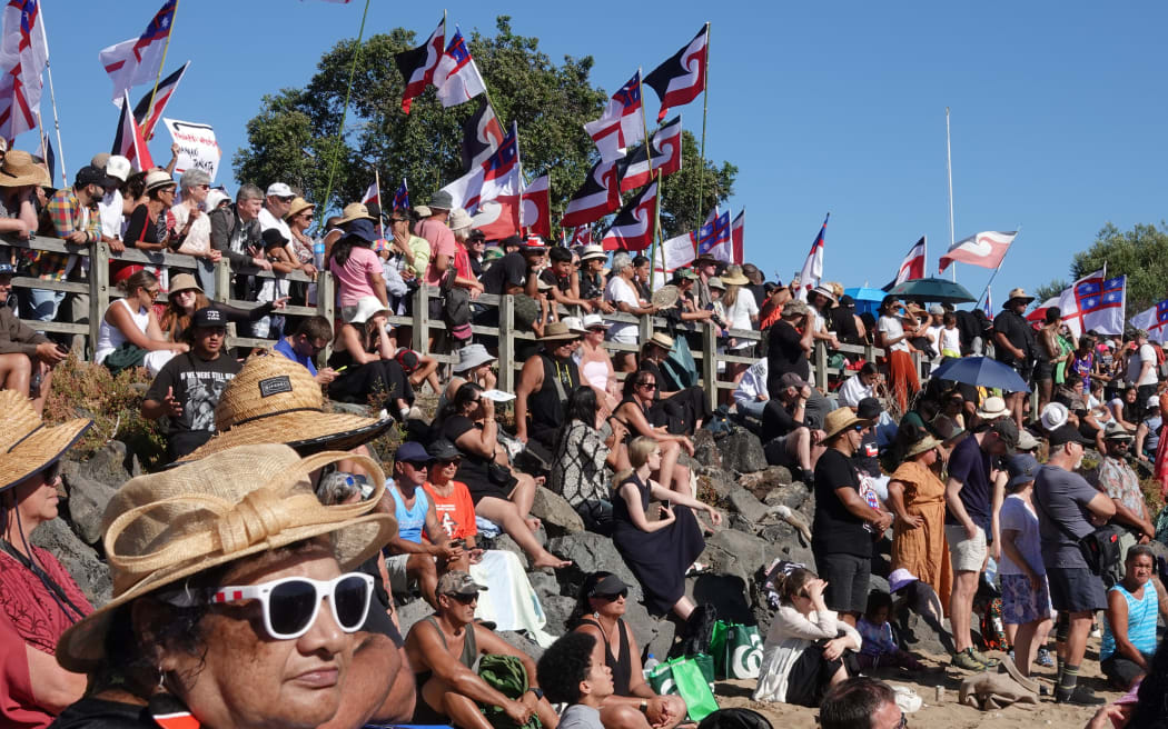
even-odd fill
[(264, 630), (276, 640), (294, 640), (308, 632), (320, 615), (320, 602), (328, 600), (333, 619), (347, 633), (364, 623), (373, 597), (373, 577), (350, 572), (333, 580), (283, 577), (262, 584), (220, 588), (213, 603), (258, 600), (264, 614)]

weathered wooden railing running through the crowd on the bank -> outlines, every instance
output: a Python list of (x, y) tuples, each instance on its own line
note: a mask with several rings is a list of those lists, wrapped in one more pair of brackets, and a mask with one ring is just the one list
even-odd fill
[[(91, 262), (98, 265), (89, 266), (88, 281), (44, 281), (41, 279), (33, 279), (27, 276), (15, 276), (13, 279), (13, 286), (15, 288), (39, 288), (49, 289), (56, 292), (67, 292), (75, 294), (88, 294), (89, 295), (89, 322), (88, 323), (65, 323), (65, 322), (42, 322), (34, 320), (22, 320), (26, 324), (32, 327), (37, 331), (46, 332), (63, 332), (71, 334), (75, 337), (82, 337), (85, 341), (85, 346), (81, 351), (88, 353), (88, 357), (92, 357), (93, 344), (98, 339), (98, 330), (102, 325), (102, 317), (105, 314), (105, 309), (109, 307), (112, 299), (118, 297), (118, 293), (112, 290), (109, 275), (107, 261), (125, 261), (131, 264), (141, 264), (144, 266), (153, 267), (165, 267), (171, 269), (187, 271), (192, 272), (199, 265), (197, 259), (190, 255), (183, 255), (179, 253), (164, 253), (164, 252), (145, 252), (138, 250), (127, 250), (120, 253), (113, 253), (110, 251), (105, 243), (96, 243), (90, 245), (76, 245), (65, 243), (58, 238), (46, 238), (46, 237), (34, 237), (32, 240), (21, 241), (15, 238), (4, 236), (0, 239), (0, 253), (4, 253), (5, 260), (7, 260), (8, 251), (4, 248), (8, 246), (19, 250), (35, 250), (35, 251), (47, 251), (53, 253), (67, 253), (75, 254), (79, 257), (88, 258)], [(243, 309), (252, 308), (259, 306), (255, 301), (239, 301), (231, 299), (231, 276), (235, 274), (241, 275), (253, 275), (262, 279), (279, 279), (285, 281), (312, 281), (307, 275), (300, 272), (292, 272), (287, 274), (272, 273), (270, 271), (262, 271), (252, 266), (241, 266), (232, 268), (230, 261), (224, 257), (215, 264), (215, 292), (211, 299), (220, 303), (227, 303), (232, 307), (238, 307)], [(287, 307), (283, 309), (281, 314), (291, 316), (312, 316), (321, 315), (328, 321), (334, 321), (335, 315), (335, 285), (333, 276), (327, 272), (318, 273), (315, 278), (317, 283), (317, 306), (315, 307)], [(440, 292), (434, 287), (422, 286), (413, 294), (413, 314), (411, 316), (390, 316), (389, 322), (395, 325), (408, 325), (412, 327), (412, 343), (413, 348), (426, 355), (431, 355), (438, 362), (442, 363), (453, 363), (457, 362), (457, 355), (451, 355), (446, 352), (430, 352), (429, 351), (429, 339), (432, 330), (445, 330), (446, 324), (442, 320), (430, 318), (430, 307), (426, 306), (427, 301), (432, 297), (439, 297)], [(515, 308), (513, 296), (495, 296), (491, 294), (484, 294), (474, 300), (474, 304), (496, 307), (499, 309), (499, 325), (498, 327), (482, 327), (474, 324), (472, 322), (471, 330), (475, 335), (486, 335), (498, 337), (499, 339), (499, 388), (507, 392), (515, 391), (515, 372), (523, 366), (523, 363), (516, 359), (515, 345), (516, 342), (522, 341), (534, 341), (536, 337), (529, 331), (519, 331), (515, 327)], [(563, 314), (568, 314), (566, 309), (561, 309)], [(666, 320), (660, 316), (653, 315), (640, 315), (635, 316), (632, 314), (605, 314), (604, 318), (609, 322), (620, 322), (620, 323), (632, 323), (638, 325), (639, 337), (638, 342), (647, 342), (654, 331), (666, 331), (667, 323)], [(698, 373), (701, 377), (702, 386), (705, 391), (707, 404), (714, 408), (718, 404), (718, 393), (723, 390), (732, 390), (735, 384), (729, 380), (719, 380), (717, 377), (718, 364), (719, 363), (741, 363), (741, 364), (753, 364), (755, 358), (739, 357), (729, 353), (718, 353), (718, 341), (715, 334), (714, 327), (705, 323), (695, 322), (682, 322), (674, 327), (674, 331), (684, 331), (691, 335), (696, 335), (701, 339), (700, 348), (693, 348), (693, 355), (695, 363), (698, 367)], [(762, 332), (756, 330), (741, 330), (732, 329), (728, 332), (728, 336), (735, 337), (737, 339), (746, 339), (751, 342), (758, 342), (762, 339)], [(640, 349), (638, 344), (621, 344), (618, 342), (605, 342), (605, 346), (612, 352), (635, 352)], [(228, 346), (271, 346), (271, 339), (255, 339), (250, 337), (235, 336), (234, 331), (229, 332), (227, 339)], [(876, 357), (882, 356), (884, 352), (881, 349), (874, 346), (856, 346), (850, 344), (841, 344), (839, 351), (847, 355), (858, 355), (864, 359), (871, 362)], [(325, 356), (327, 357), (327, 350)], [(920, 372), (922, 362), (919, 357), (916, 357), (917, 370)], [(828, 350), (822, 342), (815, 343), (815, 350), (812, 357), (812, 376), (814, 379), (814, 385), (825, 392), (828, 388), (829, 379), (849, 377), (851, 372), (841, 371), (836, 367), (828, 366)], [(624, 374), (619, 374), (624, 377)], [(925, 380), (924, 373), (922, 373), (922, 381)], [(715, 383), (715, 386), (707, 386), (708, 383)]]

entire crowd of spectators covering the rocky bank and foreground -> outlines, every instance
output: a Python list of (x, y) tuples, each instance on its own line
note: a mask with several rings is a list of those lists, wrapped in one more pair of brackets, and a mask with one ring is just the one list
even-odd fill
[[(737, 427), (814, 495), (814, 563), (753, 566), (770, 567), (776, 607), (756, 700), (821, 707), (825, 727), (897, 726), (888, 687), (857, 677), (936, 663), (904, 650), (910, 614), (952, 644), (943, 668), (1001, 665), (1035, 695), (1099, 705), (1079, 681), (1098, 632), (1111, 688), (1139, 691), (1107, 716), (1150, 726), (1168, 695), (1164, 548), (1152, 544), (1168, 530), (1141, 486), (1164, 471), (1168, 367), (1147, 332), (1075, 337), (1057, 309), (1033, 325), (1022, 289), (992, 321), (891, 295), (870, 314), (839, 285), (801, 290), (710, 255), (660, 286), (634, 252), (486, 240), (443, 192), (385, 212), (352, 203), (318, 226), (283, 182), (244, 184), (231, 202), (197, 170), (132, 174), (109, 155), (51, 190), (43, 167), (11, 150), (0, 205), (0, 232), (19, 238), (197, 264), (167, 272), (14, 247), (0, 261), (0, 299), (14, 300), (0, 307), (5, 726), (145, 727), (185, 712), (208, 727), (679, 726), (686, 702), (645, 680), (645, 637), (623, 616), (640, 594), (677, 623), (679, 651), (708, 649), (717, 616), (686, 580), (724, 525), (697, 498), (694, 439)], [(239, 267), (230, 297), (253, 306), (216, 295), (222, 257)], [(12, 288), (14, 275), (84, 282), (93, 265), (111, 266), (123, 295), (92, 359), (151, 373), (141, 415), (159, 421), (168, 465), (110, 502), (113, 600), (96, 609), (28, 538), (56, 518), (61, 460), (91, 425), (42, 422), (68, 349), (36, 323), (84, 321), (89, 302)], [(256, 271), (329, 272), (336, 321), (285, 315), (315, 287)], [(389, 323), (423, 282), (442, 293), (429, 314), (446, 324), (424, 346)], [(534, 336), (517, 345), (514, 392), (498, 388), (498, 338), (472, 330), (499, 323), (484, 293), (510, 295), (515, 327)], [(618, 311), (663, 316), (670, 334), (642, 339), (606, 318)], [(229, 350), (229, 324), (270, 351)], [(719, 370), (714, 409), (688, 353), (707, 331), (741, 358)], [(864, 344), (882, 353), (843, 348)], [(840, 372), (826, 388), (811, 384), (816, 345)], [(433, 351), (456, 362), (439, 366)], [(922, 381), (918, 362), (964, 357), (996, 360), (1027, 391)], [(370, 443), (394, 427), (404, 442), (377, 454)], [(635, 577), (586, 575), (558, 640), (547, 631), (561, 626), (530, 608), (526, 572), (571, 566), (541, 539), (541, 488), (610, 538)], [(502, 534), (524, 558), (493, 548)], [(888, 591), (871, 589), (874, 573)], [(433, 615), (403, 637), (396, 607), (411, 600)], [(536, 664), (496, 630), (548, 650)], [(492, 671), (477, 673), (480, 659)], [(1052, 686), (1035, 665), (1057, 670)]]

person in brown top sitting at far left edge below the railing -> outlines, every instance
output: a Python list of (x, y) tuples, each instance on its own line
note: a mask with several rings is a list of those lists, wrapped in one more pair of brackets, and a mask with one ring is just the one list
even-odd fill
[[(4, 306), (12, 294), (14, 272), (11, 264), (0, 264), (0, 388), (30, 397), (40, 415), (53, 383), (53, 367), (69, 356), (69, 350), (20, 323), (16, 314)], [(32, 386), (35, 380), (37, 387)]]

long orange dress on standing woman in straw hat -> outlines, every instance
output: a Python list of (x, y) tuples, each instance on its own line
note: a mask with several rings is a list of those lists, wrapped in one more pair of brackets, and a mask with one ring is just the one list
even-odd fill
[(892, 569), (908, 569), (946, 604), (953, 589), (953, 565), (945, 539), (945, 483), (916, 461), (902, 463), (891, 481), (904, 484), (904, 510), (925, 521), (916, 528), (895, 523)]

